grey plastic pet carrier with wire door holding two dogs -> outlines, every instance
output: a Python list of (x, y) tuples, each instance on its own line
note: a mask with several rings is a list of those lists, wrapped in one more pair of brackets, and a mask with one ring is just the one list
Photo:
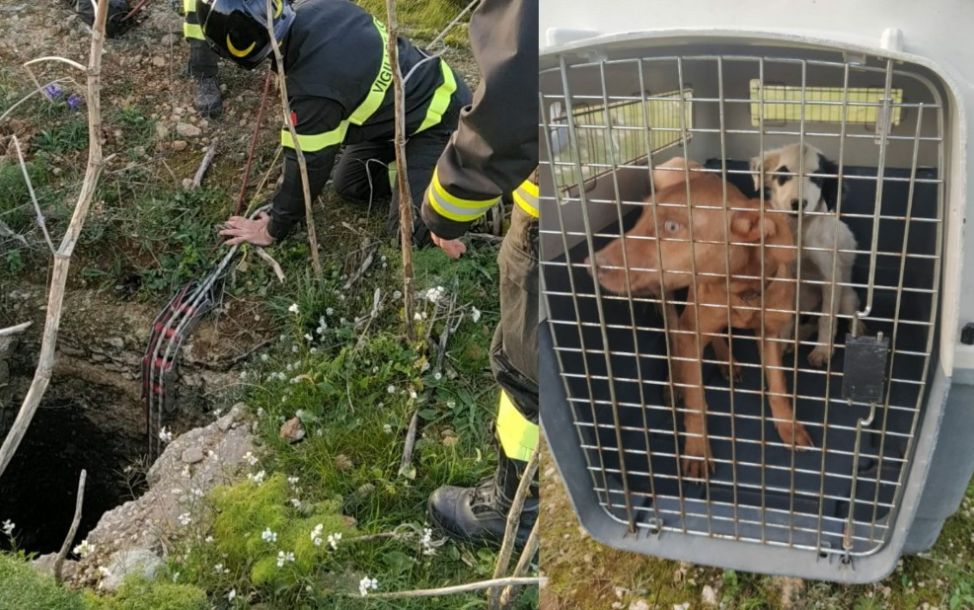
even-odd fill
[[(870, 582), (902, 553), (932, 546), (959, 506), (974, 469), (966, 344), (974, 337), (962, 341), (961, 332), (974, 320), (974, 301), (961, 298), (974, 290), (974, 274), (961, 271), (974, 256), (961, 231), (974, 49), (945, 32), (974, 23), (974, 7), (897, 3), (894, 14), (888, 6), (542, 3), (541, 418), (575, 511), (597, 540), (725, 568)], [(903, 31), (875, 26), (881, 13)], [(814, 147), (823, 163), (760, 162), (788, 145)], [(702, 352), (713, 465), (703, 475), (688, 473), (685, 460), (693, 435), (683, 395), (694, 384), (674, 376), (674, 337), (693, 333), (674, 318), (691, 297), (593, 280), (596, 253), (627, 232), (640, 239), (631, 230), (642, 214), (678, 205), (656, 201), (651, 180), (676, 156), (701, 164), (681, 170), (681, 180), (720, 176), (757, 198), (761, 214), (772, 213), (774, 181), (794, 180), (798, 199), (824, 192), (825, 182), (838, 186), (830, 209), (799, 206), (791, 216), (789, 309), (799, 315), (794, 331), (775, 339), (791, 353), (769, 367), (763, 331), (722, 330), (743, 371), (725, 380), (722, 360)], [(698, 203), (682, 247), (700, 247)], [(723, 201), (704, 203), (733, 211), (726, 189)], [(815, 214), (841, 219), (855, 246), (803, 233)], [(663, 240), (647, 239), (657, 252)], [(815, 250), (831, 250), (832, 273), (810, 274)], [(622, 252), (630, 280), (647, 270), (625, 242)], [(845, 280), (842, 254), (851, 261)], [(665, 275), (666, 259), (654, 260)], [(716, 280), (728, 291), (737, 279), (689, 275), (694, 286)], [(834, 338), (801, 331), (803, 320), (823, 315), (821, 305), (799, 302), (809, 286), (828, 302), (855, 291), (858, 303), (839, 311)], [(754, 301), (761, 313), (763, 301)], [(730, 318), (733, 309), (722, 311)], [(813, 365), (820, 344), (834, 352)], [(794, 422), (812, 447), (794, 450), (779, 438), (768, 368), (783, 371)]]

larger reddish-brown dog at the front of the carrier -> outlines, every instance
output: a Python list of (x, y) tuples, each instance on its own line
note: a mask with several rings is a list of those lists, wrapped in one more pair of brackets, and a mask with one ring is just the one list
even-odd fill
[[(762, 366), (781, 439), (793, 447), (812, 446), (804, 426), (793, 421), (781, 368), (782, 345), (773, 340), (794, 318), (788, 311), (795, 303), (794, 247), (785, 214), (766, 211), (762, 218), (757, 200), (746, 198), (716, 174), (690, 173), (689, 182), (681, 179), (658, 189), (656, 203), (647, 202), (639, 221), (623, 238), (596, 253), (594, 261), (586, 260), (599, 283), (616, 293), (659, 294), (661, 289), (689, 288), (678, 322), (681, 332), (673, 339), (673, 368), (686, 407), (682, 462), (687, 476), (703, 477), (713, 469), (701, 359), (704, 348), (712, 344), (717, 358), (734, 366), (726, 339), (715, 336), (727, 328), (728, 314), (732, 327), (752, 329), (759, 337), (763, 332)], [(730, 267), (729, 281), (725, 265)], [(760, 309), (762, 293), (764, 310)]]

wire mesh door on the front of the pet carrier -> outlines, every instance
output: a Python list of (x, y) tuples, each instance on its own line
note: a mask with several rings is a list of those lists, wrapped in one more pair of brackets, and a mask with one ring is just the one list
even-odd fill
[[(819, 557), (880, 550), (904, 491), (935, 336), (944, 183), (936, 88), (885, 59), (736, 54), (561, 57), (540, 82), (542, 290), (568, 408), (606, 515), (631, 532)], [(785, 144), (814, 145), (835, 164), (805, 155), (798, 167), (748, 163)], [(667, 168), (673, 155), (706, 162)], [(667, 170), (683, 186), (656, 188), (652, 176)], [(721, 195), (698, 195), (698, 176), (721, 178)], [(782, 218), (773, 186), (789, 180), (799, 201), (827, 180), (838, 194), (829, 209), (798, 206), (784, 216), (792, 237), (777, 247), (793, 253), (789, 267), (766, 260), (765, 233), (757, 243), (732, 229), (708, 233), (715, 215), (725, 227), (738, 213), (762, 227)], [(685, 227), (668, 221), (668, 210)], [(854, 245), (810, 233), (824, 217), (840, 219)], [(668, 222), (679, 230), (668, 234)], [(612, 248), (614, 259), (599, 262)], [(758, 266), (742, 270), (742, 251), (757, 252)], [(708, 260), (714, 253), (720, 260)], [(816, 253), (829, 261), (818, 275)], [(772, 282), (790, 286), (784, 301), (772, 298)], [(833, 323), (888, 342), (885, 360), (870, 365), (882, 368), (878, 400), (844, 397), (853, 369), (843, 333), (826, 326), (823, 337), (802, 323), (828, 319), (823, 305), (843, 289), (858, 302)], [(708, 301), (708, 290), (724, 296)], [(822, 302), (803, 306), (809, 290)], [(775, 314), (792, 320), (780, 334), (767, 329)], [(757, 323), (739, 328), (748, 315)], [(815, 348), (831, 354), (819, 366), (808, 359)], [(790, 354), (776, 361), (775, 351)], [(790, 418), (772, 414), (769, 403)], [(702, 411), (705, 432), (694, 421)], [(810, 447), (794, 447), (795, 426)], [(710, 468), (706, 450), (688, 447), (701, 440)]]

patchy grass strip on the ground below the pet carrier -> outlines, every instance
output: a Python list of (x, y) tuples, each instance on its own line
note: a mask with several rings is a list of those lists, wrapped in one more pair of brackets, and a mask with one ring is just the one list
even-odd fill
[[(547, 456), (546, 461), (550, 464)], [(721, 607), (735, 609), (974, 608), (974, 483), (930, 553), (906, 556), (885, 580), (857, 586), (772, 578), (617, 551), (580, 534), (557, 476), (547, 476), (543, 485), (541, 562), (549, 585), (542, 605), (547, 608), (585, 610), (611, 603), (630, 608), (640, 601), (648, 608), (684, 603), (697, 608), (705, 587), (715, 592)]]

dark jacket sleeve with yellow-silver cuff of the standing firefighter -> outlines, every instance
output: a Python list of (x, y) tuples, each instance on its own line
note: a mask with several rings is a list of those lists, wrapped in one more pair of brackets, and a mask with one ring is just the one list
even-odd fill
[(443, 151), (423, 201), (423, 221), (445, 239), (513, 193), (538, 216), (538, 2), (484, 0), (470, 18), (481, 81)]

